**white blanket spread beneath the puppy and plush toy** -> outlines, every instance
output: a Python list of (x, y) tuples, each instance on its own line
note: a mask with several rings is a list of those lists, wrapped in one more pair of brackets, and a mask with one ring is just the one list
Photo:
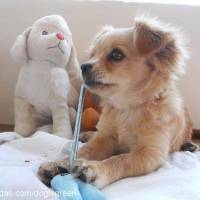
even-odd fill
[[(58, 199), (36, 172), (42, 162), (62, 157), (70, 141), (45, 132), (19, 139), (15, 133), (1, 133), (0, 144), (0, 199)], [(158, 171), (123, 179), (103, 192), (108, 200), (200, 200), (199, 189), (200, 152), (177, 152)]]

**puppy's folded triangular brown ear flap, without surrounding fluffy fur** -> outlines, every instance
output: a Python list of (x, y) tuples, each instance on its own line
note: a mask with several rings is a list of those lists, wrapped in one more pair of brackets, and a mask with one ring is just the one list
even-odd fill
[(136, 22), (134, 33), (135, 46), (141, 55), (156, 52), (167, 40), (167, 34), (145, 22)]

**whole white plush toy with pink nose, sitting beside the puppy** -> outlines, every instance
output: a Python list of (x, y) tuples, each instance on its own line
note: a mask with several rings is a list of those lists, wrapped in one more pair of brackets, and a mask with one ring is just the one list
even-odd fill
[(15, 131), (29, 136), (53, 122), (53, 133), (71, 138), (81, 73), (65, 20), (51, 15), (19, 35), (11, 49), (22, 64), (15, 90)]

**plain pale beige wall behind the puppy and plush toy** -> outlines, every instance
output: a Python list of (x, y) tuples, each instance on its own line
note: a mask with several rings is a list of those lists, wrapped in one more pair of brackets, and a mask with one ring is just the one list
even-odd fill
[(0, 124), (13, 123), (13, 97), (20, 67), (10, 57), (15, 38), (37, 18), (60, 14), (68, 21), (80, 61), (104, 24), (131, 26), (137, 12), (147, 11), (165, 22), (183, 27), (190, 40), (191, 59), (180, 89), (194, 121), (200, 127), (200, 7), (120, 1), (1, 0), (0, 1)]

